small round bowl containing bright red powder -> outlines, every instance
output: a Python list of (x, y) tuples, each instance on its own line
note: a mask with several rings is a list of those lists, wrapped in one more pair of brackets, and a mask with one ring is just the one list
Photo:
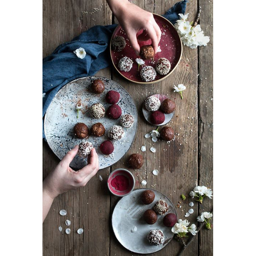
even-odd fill
[[(128, 185), (128, 188), (126, 190), (120, 191), (120, 190), (117, 190), (116, 188), (114, 188), (111, 185), (111, 181), (118, 175), (123, 175), (128, 179), (129, 185)], [(115, 196), (118, 196), (118, 197), (127, 196), (128, 194), (130, 194), (133, 191), (134, 186), (135, 186), (134, 176), (133, 176), (133, 174), (131, 174), (130, 171), (128, 171), (126, 169), (122, 169), (122, 168), (116, 169), (116, 170), (112, 171), (111, 174), (109, 174), (108, 189)]]

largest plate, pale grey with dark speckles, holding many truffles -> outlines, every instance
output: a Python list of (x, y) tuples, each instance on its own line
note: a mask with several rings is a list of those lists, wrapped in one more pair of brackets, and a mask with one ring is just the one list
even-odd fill
[[(105, 90), (101, 94), (95, 94), (90, 91), (91, 81), (101, 79), (105, 83)], [(90, 117), (89, 107), (97, 102), (104, 105), (106, 111), (110, 106), (105, 101), (105, 95), (109, 90), (115, 90), (120, 93), (120, 100), (117, 103), (122, 114), (132, 114), (134, 116), (134, 125), (131, 128), (124, 128), (125, 136), (118, 141), (113, 141), (114, 152), (108, 156), (100, 152), (99, 146), (107, 140), (108, 130), (112, 125), (120, 125), (120, 118), (113, 120), (107, 116), (101, 119)], [(79, 117), (76, 117), (76, 104), (81, 101), (83, 108), (79, 112)], [(116, 163), (128, 151), (136, 133), (138, 113), (133, 99), (127, 91), (113, 80), (104, 77), (83, 77), (71, 81), (62, 87), (51, 101), (44, 121), (44, 131), (46, 140), (59, 159), (62, 159), (69, 149), (82, 142), (73, 134), (73, 127), (77, 122), (85, 123), (89, 129), (96, 122), (101, 122), (105, 129), (105, 135), (102, 137), (89, 136), (87, 141), (93, 143), (98, 156), (100, 169)], [(80, 169), (87, 164), (87, 159), (76, 156), (70, 166), (75, 169)]]

